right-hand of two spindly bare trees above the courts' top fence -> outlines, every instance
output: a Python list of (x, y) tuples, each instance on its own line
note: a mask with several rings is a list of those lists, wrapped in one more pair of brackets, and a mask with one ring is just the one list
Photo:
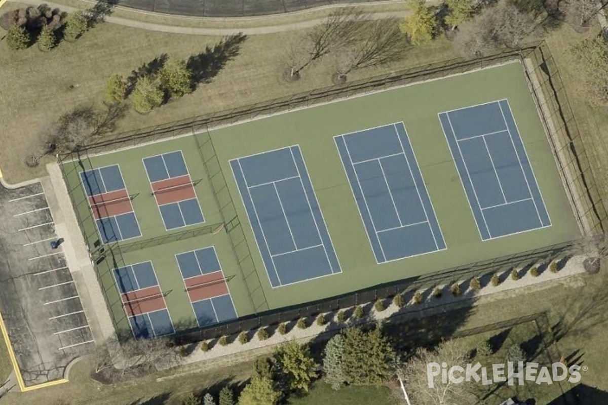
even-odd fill
[(336, 75), (345, 80), (353, 70), (399, 60), (407, 45), (407, 37), (399, 30), (398, 19), (367, 20), (362, 23), (358, 41), (334, 52)]

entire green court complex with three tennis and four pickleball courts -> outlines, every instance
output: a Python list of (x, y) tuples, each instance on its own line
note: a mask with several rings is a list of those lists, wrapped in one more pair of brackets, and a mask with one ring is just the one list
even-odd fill
[(579, 235), (519, 62), (62, 165), (111, 315), (136, 337)]

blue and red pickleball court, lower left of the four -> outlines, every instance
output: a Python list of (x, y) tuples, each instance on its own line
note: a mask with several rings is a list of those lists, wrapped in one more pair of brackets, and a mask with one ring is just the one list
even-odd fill
[(135, 338), (175, 332), (152, 262), (115, 268), (113, 273)]

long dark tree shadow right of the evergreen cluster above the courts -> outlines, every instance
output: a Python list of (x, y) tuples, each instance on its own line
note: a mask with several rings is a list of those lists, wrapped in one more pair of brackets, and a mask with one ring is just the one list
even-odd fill
[(243, 33), (230, 35), (213, 47), (207, 46), (204, 52), (190, 56), (186, 66), (192, 72), (195, 89), (198, 84), (212, 81), (226, 63), (240, 53), (241, 44), (246, 39), (247, 35)]

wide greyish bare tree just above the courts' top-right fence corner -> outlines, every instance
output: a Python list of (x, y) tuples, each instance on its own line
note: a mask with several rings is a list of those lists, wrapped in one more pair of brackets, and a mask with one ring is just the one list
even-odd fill
[(536, 27), (532, 16), (520, 12), (514, 5), (496, 5), (462, 24), (454, 42), (463, 55), (479, 58), (500, 47), (520, 47)]

